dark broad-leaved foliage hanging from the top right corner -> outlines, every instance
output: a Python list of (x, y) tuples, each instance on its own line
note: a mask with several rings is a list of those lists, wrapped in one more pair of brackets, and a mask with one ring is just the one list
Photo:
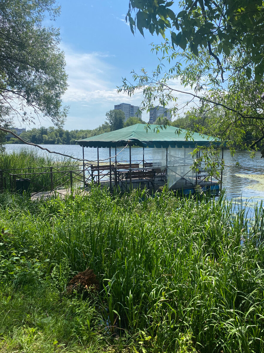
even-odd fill
[[(243, 46), (246, 61), (254, 66), (260, 82), (264, 73), (262, 0), (183, 0), (178, 13), (171, 10), (173, 5), (174, 1), (130, 0), (126, 19), (131, 31), (137, 27), (144, 35), (147, 29), (165, 38), (169, 29), (173, 47), (189, 47), (197, 56), (199, 49), (207, 50), (222, 72), (218, 55), (228, 57), (234, 48)], [(214, 43), (217, 46), (212, 50)]]

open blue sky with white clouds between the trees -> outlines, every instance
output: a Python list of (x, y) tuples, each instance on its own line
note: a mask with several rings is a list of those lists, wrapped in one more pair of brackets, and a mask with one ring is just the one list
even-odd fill
[[(106, 120), (114, 104), (140, 105), (140, 93), (132, 97), (117, 94), (117, 86), (122, 77), (132, 78), (132, 70), (155, 69), (158, 60), (150, 43), (159, 44), (163, 38), (147, 31), (145, 38), (138, 31), (133, 36), (125, 22), (128, 0), (61, 0), (60, 5), (61, 15), (53, 24), (60, 28), (60, 48), (67, 63), (69, 86), (62, 98), (70, 110), (64, 128), (93, 129)], [(143, 114), (143, 120), (148, 116)], [(40, 125), (52, 124), (42, 121), (26, 128)]]

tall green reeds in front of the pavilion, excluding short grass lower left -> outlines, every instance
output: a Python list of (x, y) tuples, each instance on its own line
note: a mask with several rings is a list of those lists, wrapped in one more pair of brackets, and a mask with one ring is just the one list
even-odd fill
[(263, 205), (248, 219), (222, 197), (166, 191), (114, 197), (94, 187), (34, 204), (1, 197), (0, 226), (46, 261), (47, 276), (62, 268), (62, 288), (94, 270), (111, 331), (156, 352), (180, 351), (186, 337), (187, 351), (264, 351)]

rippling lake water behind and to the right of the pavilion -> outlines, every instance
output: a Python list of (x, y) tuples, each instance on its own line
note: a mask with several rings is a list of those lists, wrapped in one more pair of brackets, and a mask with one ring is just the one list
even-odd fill
[[(7, 144), (6, 151), (12, 152), (19, 150), (25, 145)], [(82, 148), (79, 145), (41, 145), (50, 151), (60, 152), (73, 157), (82, 158)], [(27, 146), (27, 148), (38, 150), (40, 154), (48, 154), (37, 147)], [(122, 148), (117, 148), (120, 152)], [(112, 150), (112, 155), (115, 150)], [(132, 147), (132, 160), (142, 160), (143, 149), (140, 147)], [(109, 157), (109, 149), (100, 148), (99, 158), (105, 159)], [(224, 151), (225, 170), (223, 174), (223, 187), (226, 190), (228, 199), (236, 198), (237, 201), (250, 200), (258, 202), (264, 200), (264, 159), (260, 158), (260, 152), (256, 157), (250, 158), (247, 151), (237, 151), (234, 157), (231, 157), (229, 151)], [(97, 159), (96, 148), (84, 148), (84, 158), (90, 161)], [(152, 149), (145, 149), (145, 160), (152, 160)], [(129, 149), (124, 149), (118, 155), (119, 161), (129, 161)], [(239, 166), (236, 166), (239, 162)]]

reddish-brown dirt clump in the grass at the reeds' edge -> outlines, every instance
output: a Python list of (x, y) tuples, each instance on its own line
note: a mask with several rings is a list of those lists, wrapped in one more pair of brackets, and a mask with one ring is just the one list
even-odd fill
[(87, 269), (74, 276), (68, 283), (66, 289), (68, 293), (73, 293), (74, 289), (80, 294), (87, 291), (87, 289), (91, 289), (95, 292), (99, 291), (99, 282), (96, 279), (94, 271)]

